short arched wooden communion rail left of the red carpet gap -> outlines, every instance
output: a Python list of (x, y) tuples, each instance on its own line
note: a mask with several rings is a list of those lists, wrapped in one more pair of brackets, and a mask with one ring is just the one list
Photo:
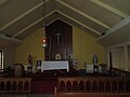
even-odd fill
[(1, 78), (0, 93), (30, 93), (30, 78)]

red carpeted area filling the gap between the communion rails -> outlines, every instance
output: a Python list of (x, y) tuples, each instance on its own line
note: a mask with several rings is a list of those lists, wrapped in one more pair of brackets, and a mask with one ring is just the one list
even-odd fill
[(31, 93), (53, 94), (56, 86), (56, 78), (32, 78)]

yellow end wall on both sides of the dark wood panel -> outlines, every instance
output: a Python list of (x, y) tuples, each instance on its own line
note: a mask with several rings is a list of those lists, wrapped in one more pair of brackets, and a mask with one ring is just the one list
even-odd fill
[[(28, 55), (31, 54), (32, 63), (44, 59), (44, 52), (41, 47), (42, 29), (30, 34), (25, 42), (16, 48), (15, 63), (27, 65)], [(73, 27), (73, 53), (78, 59), (78, 68), (82, 68), (83, 63), (92, 64), (92, 56), (96, 54), (99, 61), (104, 61), (104, 47), (95, 42), (94, 38), (77, 27)]]

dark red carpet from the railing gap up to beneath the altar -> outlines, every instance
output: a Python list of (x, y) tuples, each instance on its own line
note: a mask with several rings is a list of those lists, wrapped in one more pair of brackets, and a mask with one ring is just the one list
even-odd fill
[(53, 94), (56, 86), (57, 77), (77, 75), (74, 72), (66, 72), (66, 70), (46, 70), (43, 73), (30, 74), (31, 93), (35, 94)]

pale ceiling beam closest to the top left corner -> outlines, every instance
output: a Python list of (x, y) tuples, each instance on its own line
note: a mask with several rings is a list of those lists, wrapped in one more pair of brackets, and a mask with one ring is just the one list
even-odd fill
[[(49, 1), (49, 0), (47, 0)], [(3, 29), (8, 28), (9, 26), (11, 26), (12, 24), (16, 23), (17, 20), (20, 20), (21, 18), (23, 18), (24, 16), (28, 15), (29, 13), (31, 13), (32, 11), (35, 11), (36, 9), (38, 9), (39, 6), (41, 6), (44, 2), (40, 2), (39, 4), (37, 4), (36, 6), (34, 6), (32, 9), (28, 10), (27, 12), (25, 12), (24, 14), (20, 15), (18, 17), (16, 17), (15, 19), (11, 20), (10, 23), (8, 23), (6, 25), (4, 25), (3, 27), (0, 28), (0, 31), (2, 31)]]

